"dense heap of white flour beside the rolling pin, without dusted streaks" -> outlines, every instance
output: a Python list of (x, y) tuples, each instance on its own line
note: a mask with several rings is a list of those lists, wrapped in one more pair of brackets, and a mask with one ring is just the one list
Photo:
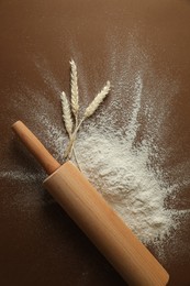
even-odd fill
[(165, 209), (168, 189), (148, 169), (147, 150), (132, 150), (114, 133), (90, 133), (77, 144), (82, 170), (141, 240), (163, 238), (172, 226)]

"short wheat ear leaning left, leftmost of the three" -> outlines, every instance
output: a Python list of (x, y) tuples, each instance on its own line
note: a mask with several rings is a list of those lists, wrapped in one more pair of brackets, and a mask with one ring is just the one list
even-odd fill
[(62, 99), (63, 120), (65, 123), (66, 131), (68, 132), (68, 134), (70, 136), (74, 124), (72, 124), (69, 102), (68, 102), (66, 94), (64, 91), (60, 95), (60, 99)]

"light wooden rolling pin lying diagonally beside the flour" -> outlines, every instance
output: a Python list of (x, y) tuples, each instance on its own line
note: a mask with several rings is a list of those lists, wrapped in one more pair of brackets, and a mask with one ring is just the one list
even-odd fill
[(164, 286), (166, 270), (70, 162), (60, 164), (21, 122), (12, 125), (49, 175), (44, 187), (92, 241), (128, 285)]

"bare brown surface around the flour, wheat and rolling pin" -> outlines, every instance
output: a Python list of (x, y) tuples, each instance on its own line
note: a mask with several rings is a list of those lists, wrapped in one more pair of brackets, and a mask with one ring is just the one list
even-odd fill
[[(171, 123), (172, 140), (181, 140), (177, 156), (167, 164), (175, 164), (179, 157), (189, 161), (189, 31), (188, 0), (0, 1), (1, 173), (24, 166), (27, 173), (38, 174), (38, 179), (29, 182), (0, 178), (0, 285), (125, 285), (66, 213), (52, 204), (41, 186), (43, 172), (16, 142), (10, 127), (21, 119), (40, 135), (41, 122), (32, 117), (40, 97), (53, 103), (52, 117), (57, 125), (62, 124), (58, 94), (60, 89), (69, 91), (70, 57), (86, 78), (80, 84), (81, 95), (94, 94), (111, 68), (115, 69), (115, 77), (112, 73), (109, 78), (114, 95), (119, 88), (116, 68), (133, 34), (149, 55), (155, 73), (168, 73), (171, 82), (172, 78), (178, 81)], [(41, 73), (36, 63), (43, 66)], [(165, 144), (170, 144), (169, 138)], [(187, 187), (178, 198), (177, 208), (190, 207), (189, 191)], [(177, 257), (169, 242), (165, 245), (169, 285), (190, 285), (189, 229), (186, 222), (178, 233), (187, 248), (179, 243), (182, 257)], [(150, 250), (154, 253), (154, 246)]]

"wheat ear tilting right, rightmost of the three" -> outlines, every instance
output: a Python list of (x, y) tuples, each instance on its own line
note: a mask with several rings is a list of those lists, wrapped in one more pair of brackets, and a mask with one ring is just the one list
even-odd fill
[(89, 118), (93, 114), (93, 112), (98, 109), (100, 103), (107, 97), (110, 91), (110, 81), (107, 81), (107, 85), (102, 88), (102, 90), (96, 96), (92, 102), (88, 106), (85, 111), (83, 119)]

